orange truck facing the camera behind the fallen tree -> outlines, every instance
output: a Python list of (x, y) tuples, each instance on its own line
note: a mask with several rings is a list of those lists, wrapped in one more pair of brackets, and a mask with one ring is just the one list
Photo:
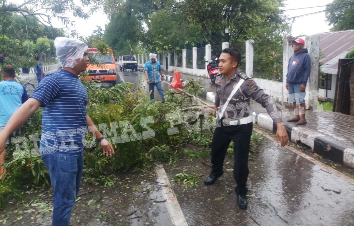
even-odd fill
[(89, 76), (86, 80), (108, 82), (114, 86), (117, 81), (117, 65), (112, 51), (110, 54), (100, 54), (96, 48), (89, 48), (88, 54), (90, 59), (96, 59), (97, 64), (90, 64), (87, 67)]

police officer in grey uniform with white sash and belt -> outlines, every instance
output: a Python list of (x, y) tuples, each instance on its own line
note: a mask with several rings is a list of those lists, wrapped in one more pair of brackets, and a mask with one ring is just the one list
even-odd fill
[(217, 110), (216, 129), (211, 145), (212, 170), (204, 181), (211, 185), (224, 173), (223, 163), (231, 140), (234, 141), (234, 179), (237, 186), (237, 204), (239, 208), (247, 208), (248, 156), (252, 135), (252, 111), (250, 98), (267, 109), (277, 126), (276, 138), (284, 146), (289, 137), (281, 120), (274, 101), (259, 88), (256, 82), (238, 70), (241, 54), (235, 48), (226, 48), (219, 58), (219, 70), (215, 80), (215, 105), (208, 107)]

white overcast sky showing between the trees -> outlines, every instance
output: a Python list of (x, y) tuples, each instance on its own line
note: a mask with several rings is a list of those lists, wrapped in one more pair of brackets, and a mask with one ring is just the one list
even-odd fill
[[(17, 4), (21, 4), (24, 2), (24, 0), (13, 0), (13, 1), (16, 2)], [(324, 6), (326, 4), (331, 3), (332, 1), (333, 0), (286, 0), (285, 7), (282, 9), (289, 10), (289, 9), (305, 8), (305, 7), (312, 7), (312, 6)], [(302, 10), (289, 10), (289, 11), (285, 11), (285, 14), (288, 17), (294, 17), (299, 15), (304, 15), (307, 13), (313, 13), (313, 12), (325, 10), (325, 8), (326, 7), (324, 6), (324, 7), (308, 8)], [(87, 9), (85, 11), (87, 11)], [(74, 28), (70, 27), (70, 29), (76, 30), (80, 36), (90, 36), (92, 34), (92, 31), (96, 30), (96, 25), (99, 25), (104, 29), (105, 24), (109, 22), (107, 16), (103, 13), (102, 10), (97, 11), (87, 20), (75, 18), (70, 14), (68, 14), (67, 16), (72, 18), (72, 21), (74, 21), (75, 24)], [(331, 27), (327, 24), (327, 22), (325, 22), (325, 19), (326, 17), (324, 12), (317, 13), (310, 16), (296, 18), (292, 26), (291, 35), (295, 37), (301, 34), (314, 35), (317, 33), (327, 32)], [(53, 26), (58, 28), (64, 27), (60, 21), (55, 19), (53, 19)]]

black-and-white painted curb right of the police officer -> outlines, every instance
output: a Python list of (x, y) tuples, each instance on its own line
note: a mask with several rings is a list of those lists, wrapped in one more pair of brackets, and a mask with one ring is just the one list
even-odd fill
[[(257, 118), (259, 126), (276, 132), (276, 125), (267, 113), (259, 114)], [(313, 153), (354, 169), (354, 149), (351, 145), (308, 127), (285, 125), (285, 129), (293, 143), (305, 144), (311, 147)]]

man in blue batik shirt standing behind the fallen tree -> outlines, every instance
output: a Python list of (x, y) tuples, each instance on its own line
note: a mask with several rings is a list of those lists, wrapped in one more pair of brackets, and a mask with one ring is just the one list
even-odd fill
[(162, 103), (165, 103), (165, 94), (162, 90), (161, 83), (164, 81), (164, 76), (162, 76), (162, 69), (160, 62), (156, 60), (156, 54), (150, 53), (150, 61), (145, 63), (145, 78), (149, 84), (150, 99), (154, 99), (154, 89), (156, 86), (157, 91), (159, 91)]

